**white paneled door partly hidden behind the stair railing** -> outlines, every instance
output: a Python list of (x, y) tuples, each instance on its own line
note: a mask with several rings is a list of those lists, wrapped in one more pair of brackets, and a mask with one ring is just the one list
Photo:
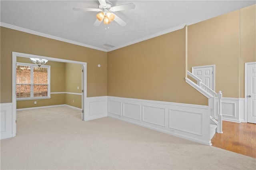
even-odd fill
[(202, 80), (206, 86), (215, 91), (215, 80), (214, 80), (215, 65), (204, 65), (192, 67), (192, 74)]

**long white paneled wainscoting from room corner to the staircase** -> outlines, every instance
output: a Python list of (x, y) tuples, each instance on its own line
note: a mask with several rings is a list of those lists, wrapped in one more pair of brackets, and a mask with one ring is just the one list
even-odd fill
[(211, 145), (208, 106), (108, 96), (108, 117)]

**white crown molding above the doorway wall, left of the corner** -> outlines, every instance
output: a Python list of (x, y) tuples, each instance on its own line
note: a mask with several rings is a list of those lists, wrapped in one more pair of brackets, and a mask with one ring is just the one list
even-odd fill
[(83, 46), (83, 47), (88, 47), (88, 48), (92, 48), (92, 49), (97, 49), (97, 50), (100, 50), (100, 51), (108, 52), (107, 49), (103, 49), (103, 48), (99, 48), (99, 47), (94, 47), (92, 45), (88, 45), (88, 44), (84, 44), (84, 43), (79, 43), (79, 42), (75, 42), (75, 41), (72, 41), (72, 40), (67, 40), (67, 39), (64, 39), (64, 38), (56, 37), (56, 36), (51, 36), (51, 35), (44, 34), (44, 33), (41, 33), (41, 32), (36, 32), (36, 31), (33, 31), (33, 30), (28, 30), (26, 28), (21, 28), (21, 27), (18, 27), (18, 26), (13, 26), (11, 24), (6, 24), (4, 22), (0, 22), (0, 26), (6, 27), (6, 28), (10, 28), (12, 30), (18, 30), (18, 31), (29, 33), (29, 34), (34, 34), (34, 35), (37, 35), (37, 36), (42, 36), (42, 37), (46, 37), (46, 38), (50, 38), (50, 39), (54, 39), (54, 40), (58, 40), (58, 41), (62, 41), (62, 42), (72, 43), (72, 44), (75, 44), (75, 45), (80, 45), (80, 46)]

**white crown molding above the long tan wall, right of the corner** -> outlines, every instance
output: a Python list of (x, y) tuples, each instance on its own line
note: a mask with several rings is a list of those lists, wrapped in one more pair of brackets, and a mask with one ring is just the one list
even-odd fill
[(116, 47), (113, 47), (113, 48), (108, 49), (108, 52), (109, 52), (109, 51), (113, 51), (113, 50), (115, 50), (115, 49), (122, 48), (122, 47), (126, 47), (126, 46), (128, 46), (128, 45), (132, 45), (132, 44), (134, 44), (134, 43), (142, 42), (142, 41), (148, 40), (148, 39), (150, 39), (150, 38), (162, 36), (162, 35), (164, 35), (164, 34), (167, 34), (167, 33), (170, 33), (170, 32), (174, 32), (174, 31), (177, 31), (177, 30), (180, 30), (180, 29), (184, 28), (185, 26), (186, 26), (186, 24), (182, 24), (182, 25), (179, 25), (179, 26), (175, 26), (175, 27), (169, 28), (169, 29), (167, 29), (167, 30), (163, 30), (163, 31), (161, 31), (161, 32), (157, 32), (157, 33), (155, 33), (155, 34), (151, 34), (151, 35), (146, 36), (146, 37), (143, 37), (143, 38), (139, 38), (139, 39), (137, 39), (137, 40), (134, 40), (134, 41), (131, 41), (131, 42), (122, 44), (122, 45), (118, 45), (118, 46), (116, 46)]

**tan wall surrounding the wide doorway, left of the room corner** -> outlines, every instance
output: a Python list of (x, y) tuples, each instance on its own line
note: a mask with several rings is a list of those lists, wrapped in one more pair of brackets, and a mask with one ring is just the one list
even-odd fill
[[(12, 102), (12, 51), (87, 62), (87, 96), (107, 95), (107, 53), (0, 27), (0, 102)], [(97, 65), (102, 67), (98, 68)]]

